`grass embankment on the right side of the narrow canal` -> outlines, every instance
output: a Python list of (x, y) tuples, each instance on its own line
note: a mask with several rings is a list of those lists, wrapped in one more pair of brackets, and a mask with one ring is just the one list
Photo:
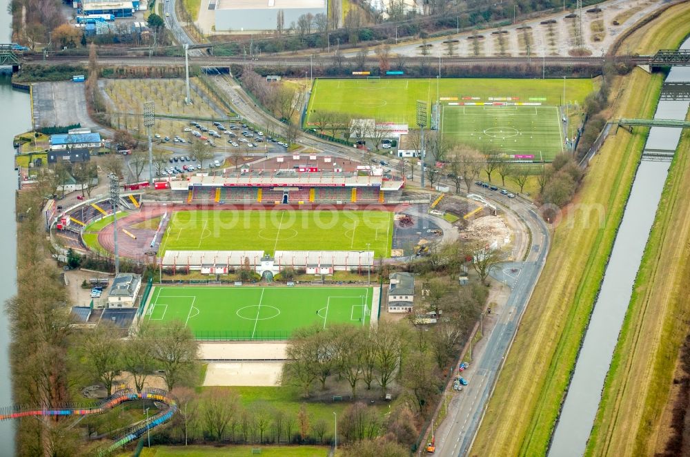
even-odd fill
[(685, 132), (635, 280), (588, 455), (652, 455), (663, 437), (662, 413), (690, 318), (689, 151)]

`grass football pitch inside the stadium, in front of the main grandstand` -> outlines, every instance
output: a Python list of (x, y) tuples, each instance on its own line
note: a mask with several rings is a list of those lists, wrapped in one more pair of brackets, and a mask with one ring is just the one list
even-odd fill
[(364, 251), (390, 257), (389, 211), (176, 211), (161, 253), (176, 251)]

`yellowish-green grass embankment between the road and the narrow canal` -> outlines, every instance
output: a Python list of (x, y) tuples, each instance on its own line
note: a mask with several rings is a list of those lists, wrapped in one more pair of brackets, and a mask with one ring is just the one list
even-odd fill
[[(634, 70), (613, 117), (651, 117), (662, 75)], [(620, 129), (610, 137), (555, 228), (551, 251), (532, 295), (473, 455), (543, 455), (596, 293), (647, 133)]]

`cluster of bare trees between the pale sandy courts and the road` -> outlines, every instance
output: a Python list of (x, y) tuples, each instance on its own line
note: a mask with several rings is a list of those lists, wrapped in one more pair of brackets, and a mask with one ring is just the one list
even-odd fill
[[(299, 387), (304, 397), (312, 395), (314, 385), (325, 391), (344, 382), (352, 398), (361, 384), (366, 391), (379, 387), (381, 397), (395, 385), (424, 414), (438, 393), (435, 371), (445, 367), (469, 336), (486, 300), (486, 288), (479, 284), (460, 288), (434, 278), (424, 288), (429, 294), (410, 316), (412, 326), (380, 321), (371, 329), (342, 324), (297, 331), (288, 342), (283, 382)], [(428, 313), (443, 315), (433, 331), (418, 319)]]

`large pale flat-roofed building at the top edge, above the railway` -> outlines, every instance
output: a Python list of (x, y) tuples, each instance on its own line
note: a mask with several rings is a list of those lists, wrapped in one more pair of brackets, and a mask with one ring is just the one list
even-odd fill
[(218, 0), (215, 30), (275, 30), (279, 11), (283, 12), (284, 28), (288, 28), (302, 14), (327, 14), (327, 6), (326, 0)]

